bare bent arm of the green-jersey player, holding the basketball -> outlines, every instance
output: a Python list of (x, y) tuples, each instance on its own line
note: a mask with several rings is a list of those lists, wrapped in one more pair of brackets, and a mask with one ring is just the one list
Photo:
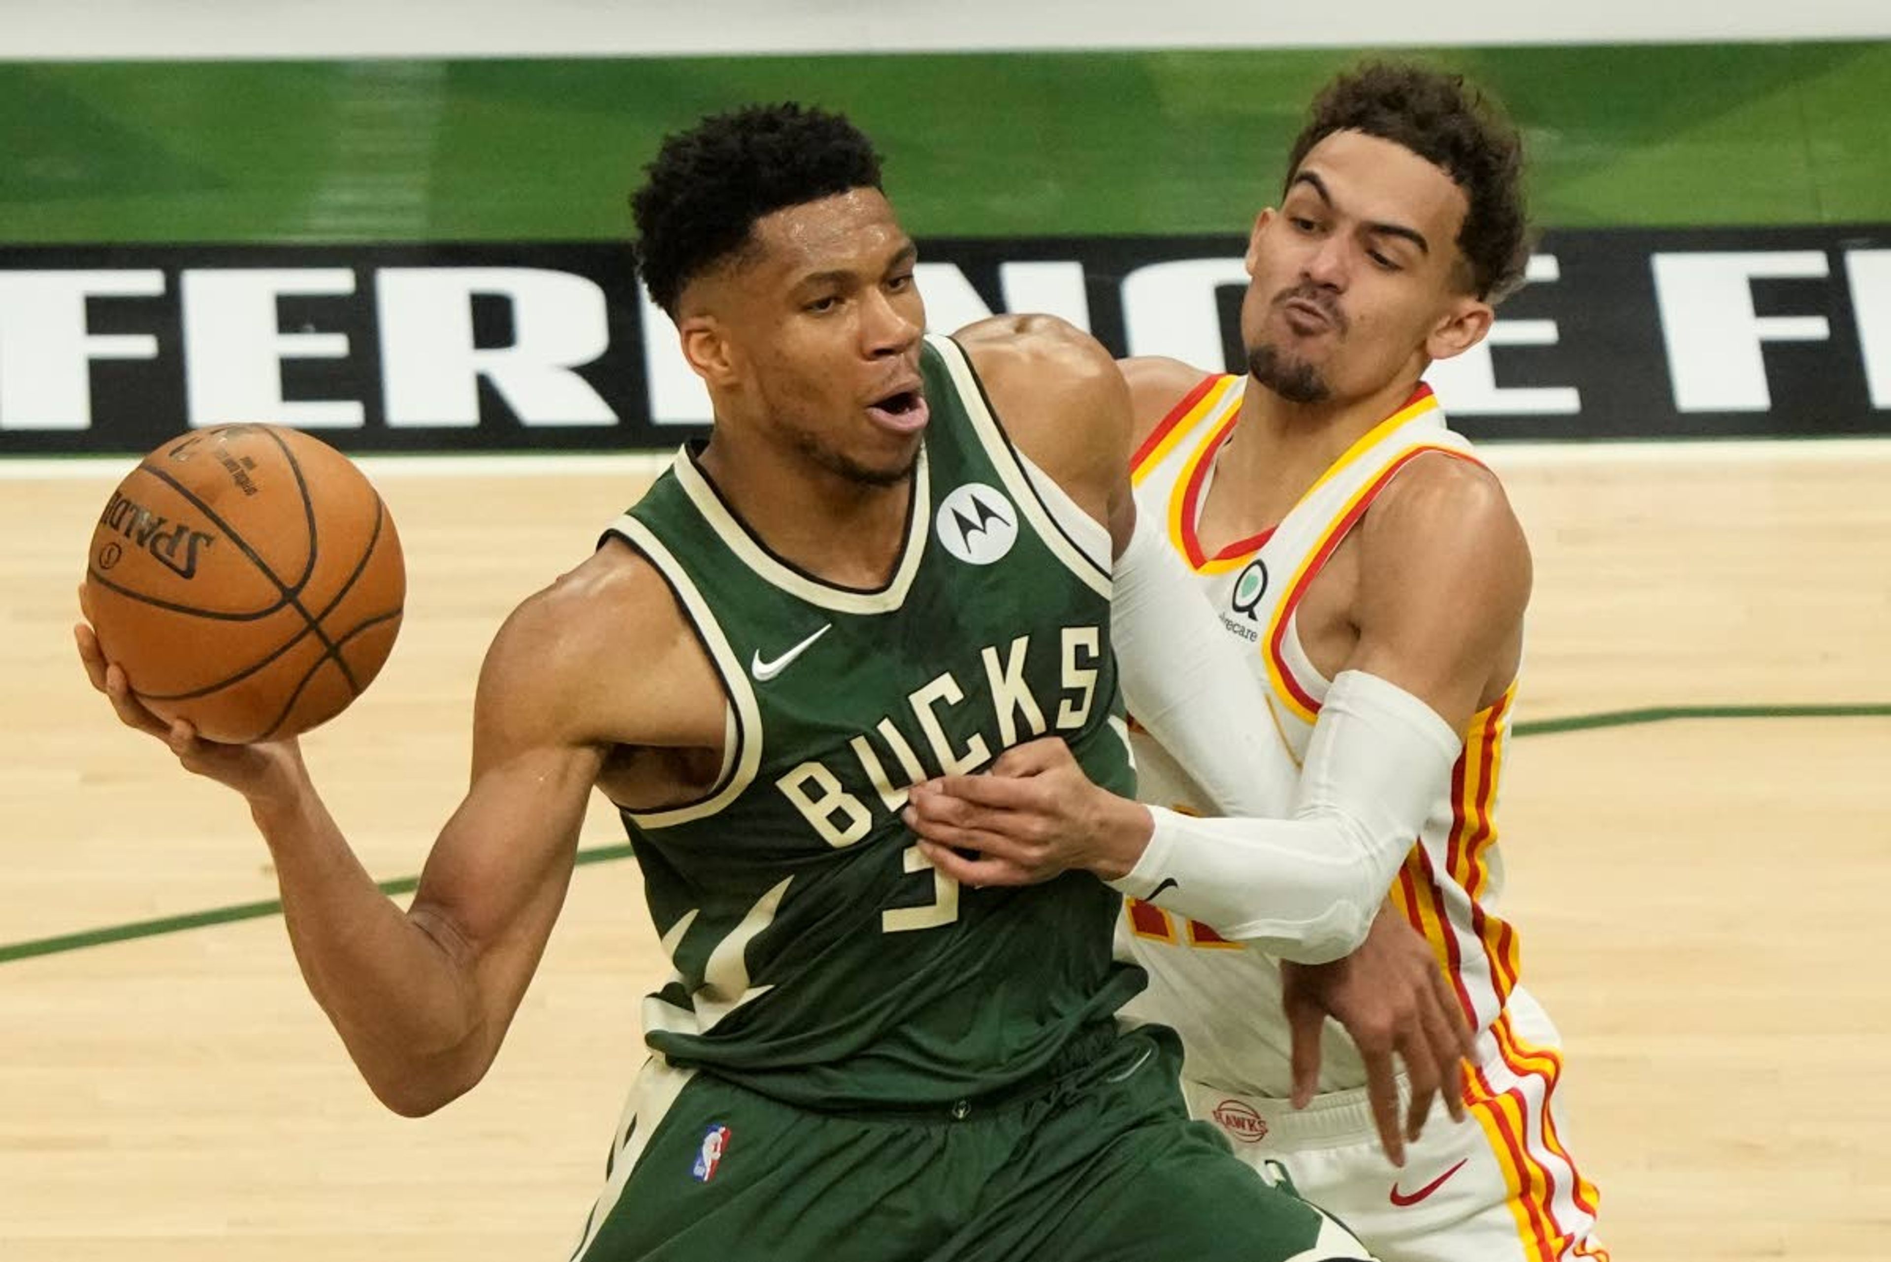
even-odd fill
[[(654, 575), (643, 587), (592, 558), (499, 630), (475, 702), (471, 787), (407, 912), (356, 859), (293, 742), (216, 745), (163, 725), (79, 628), (87, 672), (119, 717), (248, 800), (303, 976), (395, 1113), (431, 1113), (492, 1065), (564, 904), (603, 759), (643, 736), (639, 706), (660, 711), (651, 691), (599, 687), (622, 679), (624, 662), (652, 662), (654, 675), (666, 660), (677, 628), (664, 615), (675, 613)], [(664, 740), (660, 719), (649, 728)]]

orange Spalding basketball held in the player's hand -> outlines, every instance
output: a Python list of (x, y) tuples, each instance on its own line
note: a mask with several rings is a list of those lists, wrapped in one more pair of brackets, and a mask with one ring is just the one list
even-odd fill
[(299, 429), (217, 426), (117, 484), (83, 604), (146, 708), (246, 744), (346, 710), (388, 660), (405, 596), (393, 517), (354, 462)]

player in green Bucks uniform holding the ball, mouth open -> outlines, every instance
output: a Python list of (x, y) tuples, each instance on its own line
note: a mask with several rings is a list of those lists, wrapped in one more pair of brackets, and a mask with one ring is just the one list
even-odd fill
[(1112, 598), (1163, 602), (1114, 564), (1108, 352), (1029, 318), (925, 337), (913, 244), (836, 115), (705, 119), (633, 208), (715, 433), (499, 630), (410, 910), (293, 742), (166, 728), (79, 628), (121, 719), (248, 798), (369, 1086), (422, 1114), (478, 1082), (596, 785), (675, 973), (575, 1256), (1365, 1258), (1186, 1120), (1167, 1029), (1118, 1027), (1142, 976), (1112, 961), (1112, 889), (959, 887), (900, 817), (908, 785), (1050, 734), (1131, 789)]

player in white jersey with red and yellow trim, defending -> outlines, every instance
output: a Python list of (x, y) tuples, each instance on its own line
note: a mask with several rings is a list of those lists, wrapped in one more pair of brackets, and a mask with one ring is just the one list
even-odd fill
[[(1607, 1258), (1596, 1190), (1564, 1143), (1558, 1035), (1492, 906), (1530, 552), (1422, 380), (1484, 337), (1522, 276), (1520, 144), (1462, 79), (1367, 66), (1320, 93), (1288, 172), (1246, 252), (1248, 375), (1123, 363), (1144, 431), (1138, 511), (1167, 524), (1246, 643), (1267, 692), (1250, 721), (1276, 734), (1284, 780), (1231, 802), (1138, 736), (1146, 817), (1055, 757), (1032, 768), (1034, 793), (951, 780), (913, 814), (959, 880), (1087, 867), (1133, 895), (1123, 944), (1152, 976), (1133, 1012), (1184, 1035), (1191, 1109), (1384, 1262)], [(1335, 908), (1350, 954), (1288, 963), (1280, 889), (1305, 855), (1263, 827), (1286, 821), (1193, 815), (1307, 823), (1354, 797), (1403, 812), (1416, 844), (1380, 868), (1363, 946), (1362, 908)], [(1382, 1150), (1365, 1090), (1392, 1050), (1377, 1008), (1409, 986), (1399, 969), (1420, 944), (1475, 1031), (1467, 1116), (1420, 1126), (1418, 1101), (1411, 1147), (1386, 1133)]]

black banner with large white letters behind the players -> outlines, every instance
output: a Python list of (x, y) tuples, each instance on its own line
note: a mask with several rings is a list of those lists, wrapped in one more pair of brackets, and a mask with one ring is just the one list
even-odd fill
[[(936, 329), (1046, 310), (1239, 363), (1239, 238), (923, 242)], [(1479, 439), (1891, 433), (1891, 225), (1566, 231), (1431, 369)], [(0, 454), (276, 422), (346, 450), (668, 448), (707, 422), (609, 242), (0, 250)]]

